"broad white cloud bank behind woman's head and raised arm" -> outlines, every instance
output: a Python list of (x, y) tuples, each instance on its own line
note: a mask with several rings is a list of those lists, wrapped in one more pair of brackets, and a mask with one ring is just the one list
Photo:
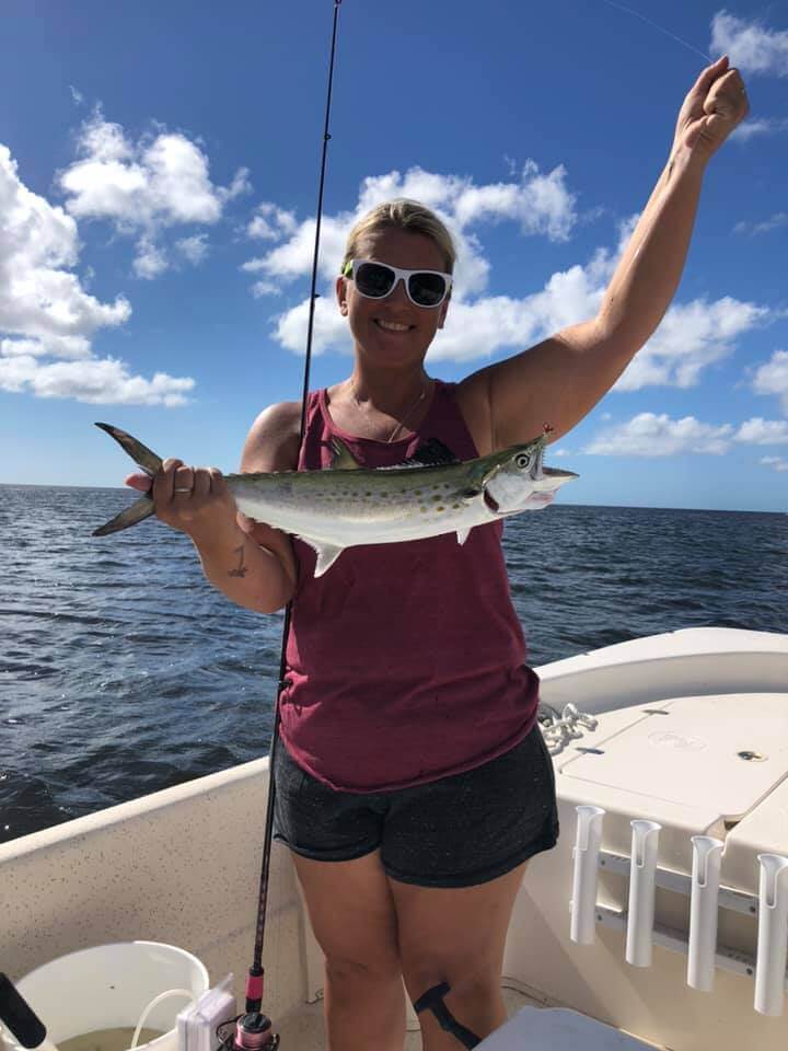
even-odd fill
[[(484, 296), (490, 269), (482, 242), (485, 224), (505, 219), (518, 222), (523, 233), (563, 239), (575, 221), (575, 197), (566, 189), (564, 169), (542, 176), (529, 162), (517, 183), (474, 186), (467, 178), (410, 169), (405, 175), (390, 172), (361, 183), (352, 212), (324, 219), (318, 270), (325, 282), (315, 321), (314, 350), (350, 351), (347, 324), (334, 303), (333, 284), (352, 223), (382, 200), (409, 196), (433, 208), (452, 232), (457, 246), (456, 282), (445, 327), (430, 347), (428, 361), (485, 360), (502, 351), (525, 349), (546, 336), (593, 317), (639, 216), (619, 224), (615, 247), (600, 247), (586, 265), (553, 274), (541, 290), (522, 298)], [(525, 216), (528, 210), (529, 215)], [(264, 218), (276, 215), (266, 205)], [(474, 227), (474, 229), (470, 229)], [(314, 221), (306, 220), (288, 240), (266, 255), (250, 259), (243, 269), (258, 274), (255, 296), (274, 294), (283, 284), (311, 273)], [(277, 319), (276, 338), (297, 353), (306, 340), (309, 301)], [(649, 343), (619, 379), (619, 391), (662, 384), (692, 386), (705, 368), (733, 353), (734, 340), (765, 323), (769, 311), (754, 303), (725, 297), (673, 305)]]

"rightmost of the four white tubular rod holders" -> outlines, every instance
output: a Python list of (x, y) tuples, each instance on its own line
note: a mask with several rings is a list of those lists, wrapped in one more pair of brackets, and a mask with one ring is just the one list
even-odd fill
[(758, 862), (761, 887), (754, 1006), (762, 1015), (781, 1015), (788, 956), (788, 857), (758, 854)]

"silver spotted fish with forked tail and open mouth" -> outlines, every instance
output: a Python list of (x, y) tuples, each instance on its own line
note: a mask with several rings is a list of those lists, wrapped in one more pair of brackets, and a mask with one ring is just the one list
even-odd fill
[[(96, 424), (115, 438), (149, 475), (162, 461), (131, 435)], [(571, 471), (543, 465), (548, 429), (531, 441), (459, 461), (440, 442), (428, 442), (417, 460), (395, 467), (359, 466), (347, 446), (333, 442), (334, 462), (324, 471), (225, 474), (237, 509), (257, 522), (299, 536), (317, 553), (322, 576), (346, 547), (391, 544), (456, 533), (463, 544), (474, 526), (537, 510), (553, 503)], [(106, 536), (153, 513), (143, 496), (93, 532)]]

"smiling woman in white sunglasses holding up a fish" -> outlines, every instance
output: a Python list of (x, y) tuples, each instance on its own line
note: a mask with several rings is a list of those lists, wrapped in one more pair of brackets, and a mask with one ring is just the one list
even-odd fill
[[(706, 164), (746, 112), (727, 58), (704, 70), (598, 316), (456, 385), (424, 368), (449, 310), (451, 239), (413, 203), (375, 209), (352, 231), (336, 282), (352, 373), (311, 395), (301, 447), (300, 405), (266, 409), (242, 470), (328, 465), (334, 435), (369, 466), (432, 437), (460, 459), (528, 441), (545, 421), (560, 438), (668, 309)], [(314, 553), (236, 516), (215, 469), (170, 459), (153, 497), (233, 601), (271, 612), (294, 600), (276, 834), (326, 956), (328, 1047), (401, 1051), (403, 977), (414, 1001), (447, 981), (457, 1020), (488, 1035), (506, 1019), (503, 946), (526, 859), (557, 835), (499, 527), (474, 529), (463, 546), (442, 536), (350, 548), (315, 579)], [(459, 1046), (420, 1018), (426, 1051)]]

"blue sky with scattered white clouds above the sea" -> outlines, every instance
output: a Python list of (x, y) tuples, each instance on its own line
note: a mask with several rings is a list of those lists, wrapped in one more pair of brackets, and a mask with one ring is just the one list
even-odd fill
[[(0, 482), (119, 484), (96, 419), (234, 471), (257, 413), (300, 396), (332, 15), (3, 4)], [(332, 275), (386, 197), (457, 235), (432, 374), (593, 316), (706, 65), (687, 45), (730, 55), (752, 113), (669, 314), (547, 460), (580, 474), (567, 503), (788, 510), (781, 4), (345, 0), (312, 385), (349, 370)]]

